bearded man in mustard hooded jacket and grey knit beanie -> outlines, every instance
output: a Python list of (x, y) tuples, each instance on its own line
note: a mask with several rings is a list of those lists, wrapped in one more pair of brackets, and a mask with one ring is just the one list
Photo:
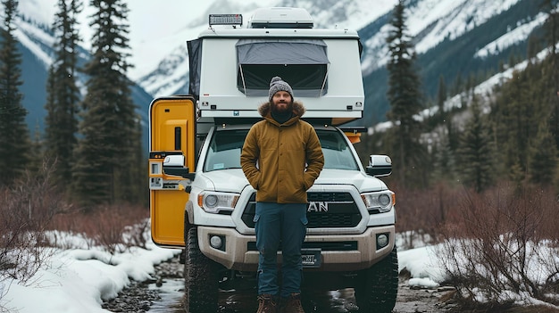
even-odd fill
[[(256, 190), (254, 230), (258, 261), (257, 313), (305, 313), (301, 306), (303, 264), (301, 247), (306, 234), (306, 191), (324, 166), (321, 143), (313, 126), (301, 119), (302, 103), (279, 77), (271, 78), (268, 102), (259, 113), (241, 152), (246, 179)], [(281, 282), (277, 255), (281, 243)]]

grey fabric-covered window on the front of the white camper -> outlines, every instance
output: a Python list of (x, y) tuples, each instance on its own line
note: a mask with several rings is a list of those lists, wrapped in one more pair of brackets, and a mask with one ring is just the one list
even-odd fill
[(270, 80), (280, 76), (295, 96), (327, 92), (327, 45), (318, 39), (240, 39), (237, 87), (247, 96), (267, 96)]

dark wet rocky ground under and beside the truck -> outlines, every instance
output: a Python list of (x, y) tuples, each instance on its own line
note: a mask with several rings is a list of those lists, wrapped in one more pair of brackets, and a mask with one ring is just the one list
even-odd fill
[[(179, 258), (171, 259), (155, 268), (153, 279), (146, 282), (132, 281), (117, 298), (105, 301), (103, 308), (112, 312), (183, 312), (180, 295), (182, 294), (183, 265)], [(396, 307), (393, 313), (447, 313), (454, 305), (446, 299), (452, 294), (452, 288), (420, 289), (410, 288), (403, 277), (399, 284)], [(175, 285), (175, 291), (169, 292)], [(172, 288), (171, 288), (172, 289)], [(313, 295), (317, 301), (312, 302), (311, 311), (357, 312), (353, 290), (328, 292)], [(328, 307), (324, 309), (324, 306)], [(218, 313), (255, 311), (254, 294), (222, 293)], [(308, 311), (309, 309), (307, 309)]]

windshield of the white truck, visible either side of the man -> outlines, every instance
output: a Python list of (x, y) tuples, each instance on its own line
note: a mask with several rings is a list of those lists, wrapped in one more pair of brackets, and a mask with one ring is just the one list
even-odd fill
[[(204, 171), (240, 169), (240, 156), (248, 129), (220, 130), (213, 133)], [(324, 154), (324, 169), (358, 170), (354, 155), (344, 136), (333, 130), (317, 129)]]

